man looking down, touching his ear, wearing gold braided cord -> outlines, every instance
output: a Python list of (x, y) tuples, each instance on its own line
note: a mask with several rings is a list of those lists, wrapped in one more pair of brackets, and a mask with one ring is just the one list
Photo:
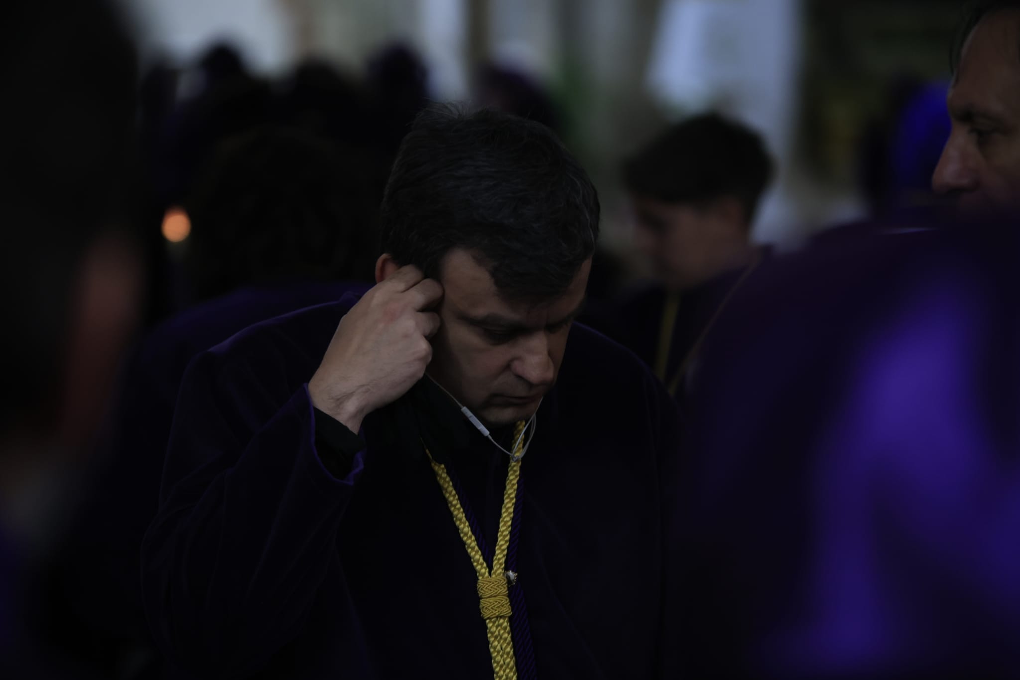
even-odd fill
[(175, 671), (659, 674), (676, 413), (629, 353), (571, 329), (598, 232), (548, 128), (419, 116), (378, 283), (185, 378), (143, 546)]

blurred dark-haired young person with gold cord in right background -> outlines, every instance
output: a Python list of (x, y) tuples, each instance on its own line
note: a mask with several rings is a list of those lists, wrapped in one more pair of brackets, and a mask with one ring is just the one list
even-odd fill
[(585, 321), (632, 350), (674, 397), (727, 296), (764, 254), (751, 227), (771, 176), (758, 134), (717, 114), (672, 125), (623, 164), (638, 245), (657, 281)]

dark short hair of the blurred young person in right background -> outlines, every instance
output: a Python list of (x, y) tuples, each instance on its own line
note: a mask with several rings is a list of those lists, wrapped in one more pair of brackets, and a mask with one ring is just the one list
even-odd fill
[(626, 159), (623, 182), (632, 194), (665, 203), (735, 198), (750, 224), (772, 171), (757, 133), (709, 113), (671, 125)]

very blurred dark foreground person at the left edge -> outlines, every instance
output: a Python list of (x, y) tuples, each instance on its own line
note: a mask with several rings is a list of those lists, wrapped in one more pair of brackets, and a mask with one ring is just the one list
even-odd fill
[(137, 64), (97, 0), (7, 2), (0, 249), (0, 676), (66, 671), (26, 625), (45, 557), (141, 315), (133, 226)]

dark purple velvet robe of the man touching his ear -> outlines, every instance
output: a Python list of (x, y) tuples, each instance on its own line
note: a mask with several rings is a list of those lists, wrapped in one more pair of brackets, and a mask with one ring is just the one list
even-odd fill
[[(476, 576), (406, 398), (364, 421), (345, 477), (307, 391), (354, 303), (259, 324), (189, 368), (143, 547), (146, 609), (180, 677), (492, 676)], [(446, 452), (476, 509), (506, 456), (473, 429)], [(537, 677), (672, 668), (678, 423), (623, 348), (576, 325), (521, 467), (519, 578)], [(472, 463), (473, 462), (473, 463)], [(502, 468), (500, 465), (502, 464)], [(513, 617), (511, 624), (514, 624)]]

